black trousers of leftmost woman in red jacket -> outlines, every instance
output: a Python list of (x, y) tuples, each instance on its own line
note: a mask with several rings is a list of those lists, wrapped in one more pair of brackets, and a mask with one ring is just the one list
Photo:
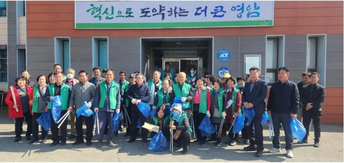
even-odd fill
[[(27, 129), (26, 129), (26, 137), (31, 137), (32, 134), (32, 115), (30, 112), (24, 113), (25, 117), (25, 122), (27, 124)], [(20, 118), (14, 118), (15, 120), (15, 125), (14, 125), (14, 132), (15, 132), (15, 138), (22, 138), (22, 132), (23, 132), (23, 121), (24, 117)]]

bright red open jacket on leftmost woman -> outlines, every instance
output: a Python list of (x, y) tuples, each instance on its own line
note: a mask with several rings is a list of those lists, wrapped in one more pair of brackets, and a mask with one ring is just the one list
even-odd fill
[[(25, 88), (27, 90), (27, 94), (29, 95), (29, 101), (32, 100), (32, 91), (33, 89), (27, 85), (25, 85)], [(15, 97), (15, 100), (17, 102), (17, 105), (18, 105), (18, 112), (16, 112), (15, 108), (13, 108), (14, 106), (14, 101), (12, 99), (12, 92), (11, 90), (9, 89), (8, 90), (8, 93), (7, 93), (7, 96), (6, 96), (6, 99), (5, 99), (5, 103), (8, 105), (8, 116), (10, 118), (21, 118), (21, 117), (24, 117), (24, 114), (23, 114), (23, 106), (22, 106), (22, 103), (21, 103), (21, 99), (19, 98), (19, 95), (18, 95), (18, 91), (17, 91), (17, 86), (13, 86), (13, 92), (14, 92), (14, 97)], [(31, 115), (33, 115), (32, 113), (32, 105), (30, 105), (29, 103), (29, 110), (30, 110), (30, 113)]]

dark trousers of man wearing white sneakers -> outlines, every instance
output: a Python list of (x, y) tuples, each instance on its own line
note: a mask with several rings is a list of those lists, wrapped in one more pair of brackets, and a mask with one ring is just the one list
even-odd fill
[(292, 129), (290, 128), (290, 113), (271, 113), (272, 124), (274, 126), (274, 138), (272, 139), (272, 143), (274, 144), (274, 148), (280, 149), (281, 144), (280, 140), (280, 132), (279, 129), (281, 128), (281, 123), (284, 130), (285, 135), (285, 150), (292, 150), (293, 144), (293, 133)]

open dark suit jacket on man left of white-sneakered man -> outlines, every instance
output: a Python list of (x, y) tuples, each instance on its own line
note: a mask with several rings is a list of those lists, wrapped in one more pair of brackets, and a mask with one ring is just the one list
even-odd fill
[(255, 108), (256, 114), (261, 114), (265, 112), (266, 106), (266, 93), (267, 93), (267, 83), (264, 80), (258, 79), (255, 86), (251, 90), (251, 81), (245, 83), (245, 89), (242, 93), (242, 103), (248, 102), (252, 103)]

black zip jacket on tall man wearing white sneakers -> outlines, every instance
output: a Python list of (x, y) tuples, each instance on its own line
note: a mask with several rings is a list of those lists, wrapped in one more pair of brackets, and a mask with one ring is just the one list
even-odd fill
[(283, 84), (277, 81), (270, 88), (267, 110), (274, 113), (296, 114), (299, 108), (299, 90), (297, 85), (289, 80)]

